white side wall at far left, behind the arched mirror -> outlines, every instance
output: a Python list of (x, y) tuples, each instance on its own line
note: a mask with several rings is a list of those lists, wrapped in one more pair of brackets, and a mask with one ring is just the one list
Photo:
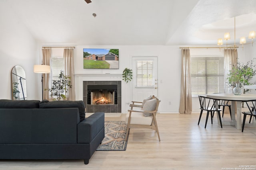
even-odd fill
[(38, 60), (35, 39), (15, 15), (14, 11), (0, 1), (0, 99), (11, 99), (11, 70), (20, 65), (26, 73), (28, 99), (38, 99), (38, 86), (33, 65)]

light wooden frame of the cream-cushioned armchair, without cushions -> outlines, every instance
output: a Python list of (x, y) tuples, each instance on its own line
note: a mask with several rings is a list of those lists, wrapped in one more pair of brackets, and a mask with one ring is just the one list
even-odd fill
[[(158, 126), (157, 126), (157, 122), (156, 122), (156, 113), (158, 111), (158, 106), (159, 106), (160, 100), (158, 98), (156, 98), (156, 109), (154, 111), (144, 111), (144, 110), (133, 110), (133, 107), (143, 107), (143, 106), (134, 106), (134, 105), (130, 105), (131, 109), (128, 110), (129, 111), (129, 118), (128, 118), (128, 124), (127, 124), (127, 130), (126, 130), (126, 137), (125, 137), (125, 141), (127, 141), (128, 139), (128, 135), (129, 135), (129, 131), (130, 128), (145, 128), (145, 129), (152, 129), (155, 130), (157, 132), (158, 135), (158, 139), (160, 141), (160, 135), (159, 135), (159, 131), (158, 131)], [(137, 113), (152, 113), (153, 115), (153, 119), (152, 119), (152, 123), (151, 125), (136, 125), (136, 124), (130, 124), (131, 121), (131, 115), (132, 112), (137, 112)]]

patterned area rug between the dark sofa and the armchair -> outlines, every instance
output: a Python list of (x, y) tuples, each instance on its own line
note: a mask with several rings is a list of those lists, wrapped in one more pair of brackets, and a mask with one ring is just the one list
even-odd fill
[(126, 150), (125, 121), (105, 121), (105, 138), (96, 150)]

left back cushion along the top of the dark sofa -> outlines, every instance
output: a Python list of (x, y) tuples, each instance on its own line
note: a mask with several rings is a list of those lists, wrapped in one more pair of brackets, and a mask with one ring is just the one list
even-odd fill
[(39, 100), (0, 100), (2, 109), (34, 109), (39, 108)]

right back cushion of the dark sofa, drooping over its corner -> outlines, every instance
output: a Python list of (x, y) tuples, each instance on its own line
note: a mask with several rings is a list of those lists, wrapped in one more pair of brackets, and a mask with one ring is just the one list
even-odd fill
[(73, 108), (77, 107), (79, 109), (80, 121), (84, 120), (85, 117), (85, 106), (82, 100), (79, 101), (70, 101), (70, 100), (63, 100), (63, 101), (52, 101), (49, 102), (48, 100), (42, 100), (39, 104), (39, 108)]

